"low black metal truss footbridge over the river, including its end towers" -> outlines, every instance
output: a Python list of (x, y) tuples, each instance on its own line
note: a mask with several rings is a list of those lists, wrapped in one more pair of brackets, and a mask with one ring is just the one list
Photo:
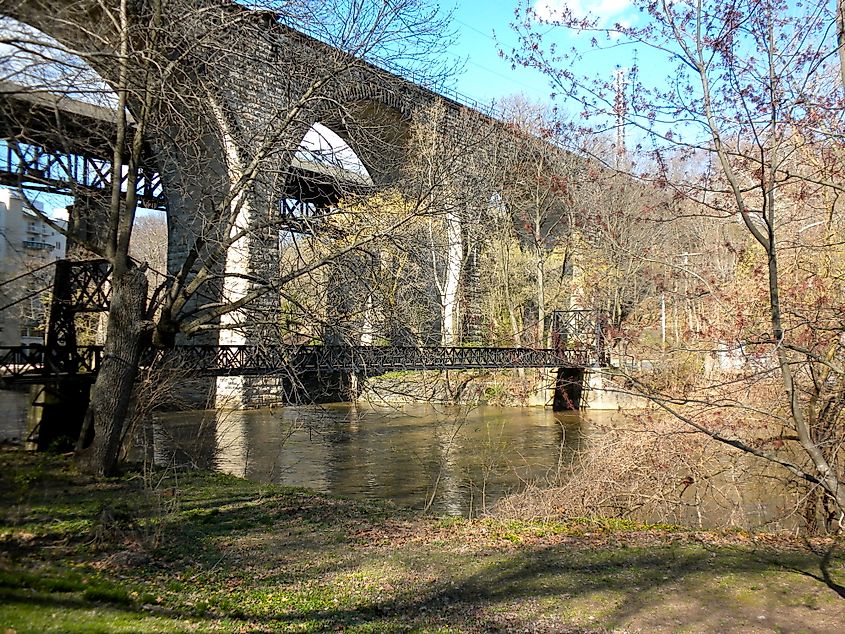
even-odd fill
[[(44, 345), (0, 347), (0, 383), (93, 381), (103, 348), (78, 345), (75, 316), (108, 308), (110, 269), (104, 260), (55, 263)], [(9, 304), (9, 306), (14, 305)], [(419, 370), (586, 368), (608, 364), (601, 311), (552, 313), (553, 348), (456, 346), (182, 345), (150, 350), (142, 366), (195, 376), (298, 375), (354, 372), (375, 376)]]

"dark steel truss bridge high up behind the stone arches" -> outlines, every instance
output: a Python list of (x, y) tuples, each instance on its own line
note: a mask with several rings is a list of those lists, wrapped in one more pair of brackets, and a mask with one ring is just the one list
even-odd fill
[[(114, 114), (108, 108), (0, 80), (0, 185), (67, 196), (108, 193), (114, 179), (114, 135)], [(292, 159), (280, 197), (280, 213), (291, 230), (313, 230), (307, 218), (312, 213), (309, 205), (336, 203), (338, 183), (346, 191), (372, 186), (335, 163), (331, 153), (316, 151)], [(128, 171), (119, 178), (125, 191)], [(140, 206), (167, 209), (155, 155), (148, 146), (135, 182)]]

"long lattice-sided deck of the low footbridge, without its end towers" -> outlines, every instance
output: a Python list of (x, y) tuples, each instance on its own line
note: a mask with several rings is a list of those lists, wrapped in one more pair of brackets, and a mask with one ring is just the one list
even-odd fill
[[(44, 346), (0, 348), (0, 381), (39, 383), (69, 376), (72, 354), (79, 378), (93, 379), (102, 348), (71, 351)], [(595, 350), (410, 346), (177, 346), (156, 351), (144, 366), (201, 376), (259, 376), (303, 372), (360, 372), (369, 375), (409, 370), (559, 368), (603, 365)], [(61, 370), (60, 370), (61, 368)]]

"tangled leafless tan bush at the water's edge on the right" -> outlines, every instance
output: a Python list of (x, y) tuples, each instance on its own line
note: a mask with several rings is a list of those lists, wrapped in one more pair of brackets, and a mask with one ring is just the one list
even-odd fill
[[(777, 496), (770, 479), (778, 477)], [(800, 495), (759, 461), (654, 414), (594, 426), (557, 482), (498, 503), (505, 518), (611, 517), (697, 527), (793, 528)], [(783, 478), (785, 479), (785, 478)]]

